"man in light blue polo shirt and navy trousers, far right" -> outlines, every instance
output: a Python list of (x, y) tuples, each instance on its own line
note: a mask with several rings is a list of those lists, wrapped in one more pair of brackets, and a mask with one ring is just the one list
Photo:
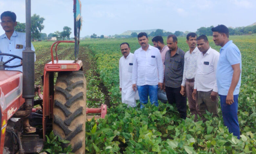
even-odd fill
[(221, 100), (224, 125), (230, 133), (240, 139), (238, 123), (238, 95), (241, 85), (242, 59), (240, 50), (229, 41), (229, 31), (224, 25), (212, 28), (215, 45), (221, 46), (217, 65), (216, 80)]

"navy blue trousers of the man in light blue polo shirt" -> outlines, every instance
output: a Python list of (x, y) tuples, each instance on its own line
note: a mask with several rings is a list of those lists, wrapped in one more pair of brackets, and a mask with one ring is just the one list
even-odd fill
[(237, 117), (238, 94), (234, 95), (234, 103), (231, 105), (226, 104), (226, 97), (227, 96), (225, 95), (220, 95), (224, 125), (227, 126), (230, 133), (233, 133), (234, 136), (237, 136), (237, 138), (240, 139), (240, 129)]

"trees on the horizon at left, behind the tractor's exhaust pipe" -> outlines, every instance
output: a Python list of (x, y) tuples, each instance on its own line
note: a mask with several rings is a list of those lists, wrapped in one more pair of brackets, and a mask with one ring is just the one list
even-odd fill
[[(32, 40), (47, 40), (52, 37), (56, 37), (59, 39), (70, 39), (71, 28), (68, 26), (63, 27), (63, 31), (55, 31), (54, 33), (50, 33), (48, 36), (46, 33), (41, 33), (41, 30), (44, 29), (44, 18), (39, 15), (33, 14), (31, 17), (31, 38)], [(18, 32), (26, 32), (26, 24), (17, 22), (17, 26), (15, 30)], [(103, 36), (104, 37), (104, 36)]]

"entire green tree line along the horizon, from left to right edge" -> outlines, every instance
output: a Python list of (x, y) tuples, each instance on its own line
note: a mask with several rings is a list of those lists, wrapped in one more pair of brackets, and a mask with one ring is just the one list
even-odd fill
[[(53, 33), (46, 34), (46, 33), (41, 33), (41, 30), (44, 29), (44, 18), (40, 17), (39, 15), (33, 14), (31, 17), (31, 38), (32, 40), (49, 40), (52, 37), (56, 37), (57, 40), (64, 40), (64, 39), (70, 39), (70, 34), (71, 34), (71, 28), (68, 26), (63, 27), (63, 31), (54, 31)], [(198, 35), (207, 35), (211, 36), (212, 31), (211, 29), (213, 26), (210, 27), (201, 27), (197, 29), (196, 33)], [(256, 25), (253, 26), (246, 26), (246, 27), (237, 27), (237, 28), (228, 28), (229, 29), (229, 35), (247, 35), (247, 34), (253, 34), (256, 33)], [(17, 22), (17, 26), (15, 27), (15, 30), (18, 32), (25, 32), (26, 31), (26, 24), (25, 23), (20, 23)], [(156, 31), (152, 31), (148, 36), (154, 37), (154, 36), (168, 36), (170, 34), (174, 34), (176, 36), (186, 36), (190, 31), (175, 31), (174, 33), (166, 31), (163, 32), (163, 29), (157, 29)], [(129, 38), (129, 37), (137, 37), (136, 32), (132, 32), (131, 35), (109, 35), (108, 37), (114, 37), (114, 38)], [(90, 38), (104, 38), (104, 35), (97, 36), (95, 33), (93, 33)]]

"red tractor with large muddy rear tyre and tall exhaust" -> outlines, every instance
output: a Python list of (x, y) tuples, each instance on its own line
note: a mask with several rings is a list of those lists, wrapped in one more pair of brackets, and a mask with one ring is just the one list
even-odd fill
[[(86, 108), (86, 80), (82, 61), (78, 60), (80, 10), (80, 1), (74, 0), (75, 41), (57, 41), (52, 45), (52, 61), (44, 67), (43, 95), (40, 93), (40, 88), (37, 88), (41, 99), (34, 101), (31, 2), (26, 0), (26, 49), (22, 53), (23, 58), (0, 53), (0, 56), (13, 57), (9, 61), (0, 62), (1, 154), (40, 152), (48, 130), (53, 130), (61, 139), (70, 141), (72, 152), (85, 153), (86, 114), (101, 113), (97, 118), (104, 118), (106, 115), (106, 105), (101, 105), (101, 108)], [(57, 46), (61, 42), (75, 43), (75, 60), (58, 60)], [(56, 60), (53, 58), (54, 45), (56, 45)], [(5, 70), (9, 67), (6, 64), (15, 58), (22, 60), (23, 73)], [(58, 75), (54, 86), (55, 73)], [(33, 126), (37, 126), (37, 129), (36, 133), (28, 135), (23, 130), (22, 120), (31, 114), (33, 101), (34, 105), (40, 104), (42, 113), (32, 113), (31, 122)]]

